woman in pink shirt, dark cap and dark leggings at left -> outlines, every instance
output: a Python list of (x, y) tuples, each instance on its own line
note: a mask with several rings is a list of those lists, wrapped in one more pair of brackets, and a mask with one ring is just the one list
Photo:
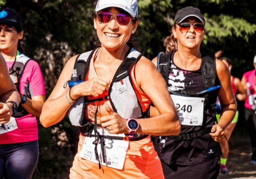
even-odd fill
[(0, 178), (29, 179), (38, 162), (38, 125), (45, 102), (45, 84), (39, 65), (25, 56), (18, 44), (23, 38), (21, 17), (12, 8), (0, 10), (0, 50), (6, 60), (20, 105), (8, 129), (0, 130)]

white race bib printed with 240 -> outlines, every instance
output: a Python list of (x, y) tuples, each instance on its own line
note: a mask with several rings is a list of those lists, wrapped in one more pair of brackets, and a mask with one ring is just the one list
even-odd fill
[(202, 126), (204, 119), (204, 97), (171, 95), (180, 118), (180, 123), (187, 126)]

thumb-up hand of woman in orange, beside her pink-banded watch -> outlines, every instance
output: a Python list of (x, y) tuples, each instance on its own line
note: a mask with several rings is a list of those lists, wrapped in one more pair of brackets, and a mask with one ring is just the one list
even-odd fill
[(128, 133), (127, 120), (114, 112), (108, 104), (105, 104), (105, 109), (109, 115), (101, 117), (101, 126), (103, 128), (109, 127), (109, 133), (112, 134)]

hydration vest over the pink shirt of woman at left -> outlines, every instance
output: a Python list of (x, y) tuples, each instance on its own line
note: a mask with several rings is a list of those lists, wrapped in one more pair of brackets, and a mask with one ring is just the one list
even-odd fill
[[(19, 55), (16, 56), (15, 61), (12, 65), (13, 70), (16, 72), (17, 75), (17, 83), (15, 84), (17, 91), (20, 93), (20, 80), (23, 75), (25, 66), (28, 64), (28, 61), (31, 60), (29, 57), (25, 56), (24, 54), (18, 52)], [(31, 94), (29, 92), (29, 83), (25, 85), (24, 88), (24, 95), (26, 95), (29, 99), (31, 99)], [(14, 118), (21, 118), (25, 115), (29, 114), (23, 106), (20, 104), (17, 108), (16, 114), (13, 115)]]

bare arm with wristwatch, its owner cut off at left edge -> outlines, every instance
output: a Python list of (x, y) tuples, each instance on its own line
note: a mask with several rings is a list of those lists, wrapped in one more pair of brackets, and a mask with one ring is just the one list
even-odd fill
[(10, 78), (6, 62), (2, 55), (0, 55), (0, 68), (0, 123), (4, 124), (10, 121), (11, 115), (13, 114), (13, 104), (5, 104), (5, 102), (14, 101), (19, 105), (19, 95)]

